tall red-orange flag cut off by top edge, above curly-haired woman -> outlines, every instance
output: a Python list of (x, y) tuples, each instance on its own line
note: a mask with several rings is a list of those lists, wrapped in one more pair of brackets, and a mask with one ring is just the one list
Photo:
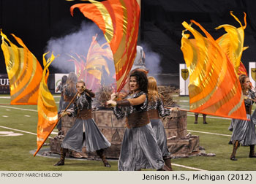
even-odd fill
[(109, 43), (116, 69), (117, 91), (121, 91), (136, 56), (140, 7), (136, 0), (88, 0), (91, 4), (75, 4), (86, 18), (94, 21)]

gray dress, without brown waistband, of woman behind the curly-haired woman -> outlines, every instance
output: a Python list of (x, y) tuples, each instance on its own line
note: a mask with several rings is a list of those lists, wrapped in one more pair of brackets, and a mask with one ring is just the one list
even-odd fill
[[(161, 117), (170, 115), (170, 110), (167, 110), (164, 108), (162, 99), (159, 97), (156, 97), (155, 100), (152, 99), (151, 101), (148, 102), (148, 110), (157, 110)], [(162, 151), (162, 157), (170, 158), (170, 151), (167, 148), (167, 137), (166, 137), (165, 128), (162, 124), (162, 120), (160, 118), (150, 119), (150, 122), (154, 130), (154, 134), (157, 137), (157, 144), (159, 145), (160, 150)]]

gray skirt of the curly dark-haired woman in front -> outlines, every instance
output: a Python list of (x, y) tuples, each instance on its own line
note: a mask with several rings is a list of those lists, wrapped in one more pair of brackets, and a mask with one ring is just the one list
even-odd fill
[(161, 169), (162, 152), (157, 145), (151, 123), (138, 128), (125, 129), (118, 160), (119, 171)]

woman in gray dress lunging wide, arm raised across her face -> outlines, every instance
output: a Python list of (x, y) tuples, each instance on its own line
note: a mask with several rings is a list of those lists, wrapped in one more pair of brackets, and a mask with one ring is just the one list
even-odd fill
[(94, 119), (91, 118), (91, 98), (95, 96), (92, 91), (86, 89), (85, 83), (80, 80), (77, 85), (78, 96), (74, 102), (74, 110), (72, 112), (64, 112), (61, 114), (77, 117), (74, 125), (65, 136), (61, 144), (61, 159), (54, 166), (64, 165), (67, 150), (82, 151), (82, 147), (86, 146), (89, 152), (95, 151), (102, 159), (104, 166), (110, 167), (110, 164), (104, 156), (104, 150), (110, 147), (110, 142), (104, 137), (97, 127)]

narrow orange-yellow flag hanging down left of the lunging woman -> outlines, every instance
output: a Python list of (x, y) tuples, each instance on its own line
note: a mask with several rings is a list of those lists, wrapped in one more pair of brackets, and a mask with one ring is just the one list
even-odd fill
[(38, 123), (37, 123), (37, 151), (34, 156), (37, 155), (38, 151), (45, 143), (46, 139), (49, 137), (50, 133), (53, 131), (54, 127), (58, 123), (58, 110), (56, 107), (56, 102), (52, 94), (50, 93), (47, 85), (47, 80), (49, 76), (48, 67), (53, 62), (55, 56), (52, 54), (48, 61), (45, 60), (45, 53), (42, 57), (44, 70), (42, 72), (42, 79), (39, 85), (38, 94)]

